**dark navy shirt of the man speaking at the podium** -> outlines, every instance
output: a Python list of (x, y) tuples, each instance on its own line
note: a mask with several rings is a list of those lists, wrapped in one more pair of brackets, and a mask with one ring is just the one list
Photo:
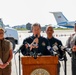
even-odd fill
[[(30, 37), (24, 39), (23, 44), (25, 44), (25, 43), (31, 44), (34, 39), (35, 39), (34, 36), (30, 36)], [(50, 55), (50, 52), (47, 50), (47, 46), (49, 45), (48, 40), (42, 36), (40, 36), (38, 39), (39, 39), (38, 53), (41, 53), (42, 55)], [(26, 55), (26, 51), (27, 51), (27, 49), (24, 47), (21, 50), (21, 53), (23, 55)], [(33, 49), (31, 51), (33, 52)]]

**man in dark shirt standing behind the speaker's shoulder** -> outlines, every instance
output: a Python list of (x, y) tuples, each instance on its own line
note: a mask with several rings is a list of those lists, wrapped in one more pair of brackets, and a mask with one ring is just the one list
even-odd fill
[[(62, 42), (60, 40), (54, 38), (53, 33), (54, 33), (53, 27), (51, 25), (49, 25), (46, 28), (47, 39), (52, 48), (54, 47), (54, 45), (58, 47), (57, 54), (59, 56), (59, 59), (61, 60), (63, 58), (64, 52), (60, 49), (59, 46), (62, 46)], [(59, 72), (60, 72), (60, 63), (58, 64), (58, 75), (59, 75)]]

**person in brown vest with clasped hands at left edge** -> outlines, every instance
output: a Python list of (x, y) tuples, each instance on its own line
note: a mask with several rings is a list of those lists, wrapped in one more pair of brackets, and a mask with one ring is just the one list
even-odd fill
[(11, 75), (12, 57), (12, 45), (4, 39), (4, 30), (0, 28), (0, 75)]

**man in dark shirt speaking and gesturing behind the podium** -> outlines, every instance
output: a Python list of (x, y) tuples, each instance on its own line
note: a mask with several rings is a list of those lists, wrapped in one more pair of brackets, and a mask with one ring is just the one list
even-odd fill
[[(41, 55), (50, 55), (50, 52), (47, 50), (48, 40), (40, 35), (41, 26), (39, 23), (35, 23), (32, 26), (33, 35), (24, 39), (23, 45), (25, 47), (21, 49), (23, 55), (37, 54)], [(28, 51), (30, 50), (30, 51)]]

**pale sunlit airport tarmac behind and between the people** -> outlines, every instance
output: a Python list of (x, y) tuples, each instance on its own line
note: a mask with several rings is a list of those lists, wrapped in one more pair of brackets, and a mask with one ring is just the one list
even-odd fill
[[(72, 33), (74, 33), (73, 30), (55, 30), (54, 37), (60, 39), (63, 45), (65, 46), (66, 40)], [(31, 36), (32, 33), (27, 33), (26, 31), (18, 31), (18, 35), (19, 35), (19, 45), (16, 46), (14, 51), (18, 50), (19, 47), (22, 45), (23, 39), (28, 36)], [(41, 33), (41, 35), (46, 37), (46, 33)], [(67, 74), (66, 75), (72, 75), (71, 74), (71, 58), (69, 57), (67, 53), (66, 55), (67, 55)], [(22, 54), (20, 54), (20, 56), (22, 57)], [(65, 75), (64, 74), (64, 61), (60, 61), (60, 63), (61, 63), (60, 75)], [(21, 69), (21, 73), (22, 73), (22, 69)], [(19, 54), (18, 53), (16, 55), (13, 53), (12, 75), (19, 75)]]

